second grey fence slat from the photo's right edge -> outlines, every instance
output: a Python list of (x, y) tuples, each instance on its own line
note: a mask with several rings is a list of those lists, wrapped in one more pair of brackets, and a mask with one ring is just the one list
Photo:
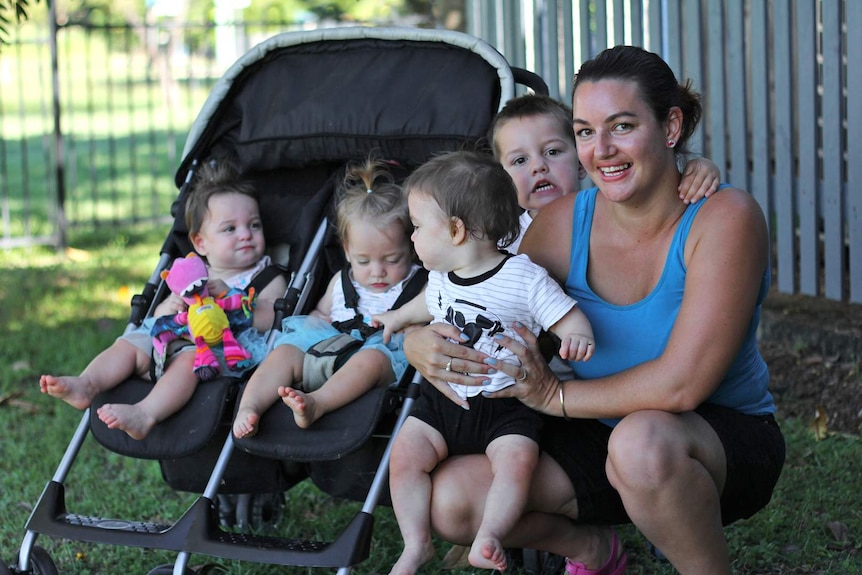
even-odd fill
[[(823, 20), (823, 236), (826, 297), (844, 291), (844, 213), (841, 197), (841, 6), (821, 4)], [(854, 31), (858, 34), (858, 30)], [(853, 134), (859, 137), (859, 134)]]

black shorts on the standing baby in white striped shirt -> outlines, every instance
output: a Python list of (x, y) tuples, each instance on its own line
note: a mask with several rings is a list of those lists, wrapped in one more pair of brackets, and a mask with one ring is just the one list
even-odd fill
[(503, 435), (523, 435), (539, 443), (542, 417), (517, 399), (479, 394), (467, 400), (466, 410), (427, 381), (420, 389), (410, 415), (440, 432), (449, 455), (485, 453), (488, 444)]

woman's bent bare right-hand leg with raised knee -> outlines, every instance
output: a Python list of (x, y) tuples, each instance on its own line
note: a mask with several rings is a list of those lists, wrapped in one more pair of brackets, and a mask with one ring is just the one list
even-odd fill
[(724, 448), (699, 415), (643, 411), (608, 444), (608, 478), (634, 524), (683, 575), (727, 575)]

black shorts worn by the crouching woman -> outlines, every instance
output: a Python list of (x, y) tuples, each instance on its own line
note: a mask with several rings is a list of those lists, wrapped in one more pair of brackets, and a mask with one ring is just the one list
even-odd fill
[[(751, 517), (769, 503), (784, 466), (784, 436), (772, 415), (744, 415), (703, 405), (695, 410), (715, 430), (727, 459), (721, 494), (724, 525)], [(631, 523), (605, 473), (613, 428), (596, 420), (546, 417), (542, 450), (560, 464), (578, 499), (578, 523)]]

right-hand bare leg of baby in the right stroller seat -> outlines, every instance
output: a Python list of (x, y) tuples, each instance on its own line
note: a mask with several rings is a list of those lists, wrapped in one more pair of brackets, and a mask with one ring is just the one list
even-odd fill
[(395, 381), (392, 363), (383, 352), (361, 349), (353, 354), (319, 389), (305, 393), (289, 386), (278, 394), (293, 411), (296, 425), (305, 429), (339, 407), (379, 385)]

